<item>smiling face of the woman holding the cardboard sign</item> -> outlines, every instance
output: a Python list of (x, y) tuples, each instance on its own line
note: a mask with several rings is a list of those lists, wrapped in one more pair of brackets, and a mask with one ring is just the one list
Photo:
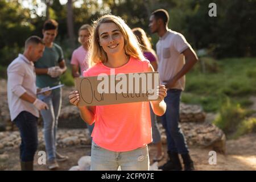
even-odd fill
[(102, 23), (98, 28), (100, 46), (107, 55), (125, 52), (125, 39), (115, 23)]

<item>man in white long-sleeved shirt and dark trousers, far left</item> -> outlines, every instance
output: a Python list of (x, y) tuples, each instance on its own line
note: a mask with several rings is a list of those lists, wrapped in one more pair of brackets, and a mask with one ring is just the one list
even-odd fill
[[(13, 121), (19, 128), (20, 163), (22, 170), (33, 170), (34, 155), (38, 147), (37, 119), (39, 111), (48, 109), (36, 98), (34, 62), (43, 55), (44, 43), (38, 36), (26, 40), (23, 54), (14, 59), (7, 68), (7, 99)], [(47, 93), (48, 94), (48, 93)]]

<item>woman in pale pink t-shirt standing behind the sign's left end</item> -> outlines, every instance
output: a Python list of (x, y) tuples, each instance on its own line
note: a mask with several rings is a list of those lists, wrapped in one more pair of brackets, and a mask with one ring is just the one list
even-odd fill
[(78, 41), (81, 46), (73, 51), (71, 58), (73, 77), (82, 76), (82, 72), (88, 69), (87, 53), (89, 48), (90, 34), (92, 34), (92, 26), (89, 24), (84, 24), (79, 28)]

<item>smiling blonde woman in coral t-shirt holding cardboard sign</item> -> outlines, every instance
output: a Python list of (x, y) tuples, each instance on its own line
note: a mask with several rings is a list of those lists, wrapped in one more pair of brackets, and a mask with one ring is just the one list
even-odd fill
[[(84, 76), (110, 72), (152, 72), (131, 29), (118, 16), (104, 15), (95, 23), (89, 48), (90, 68)], [(150, 101), (156, 115), (163, 115), (167, 89), (159, 85), (158, 101)], [(77, 90), (69, 94), (73, 105), (79, 102)], [(81, 118), (92, 125), (92, 170), (148, 170), (147, 144), (152, 142), (148, 102), (104, 106), (78, 106)]]

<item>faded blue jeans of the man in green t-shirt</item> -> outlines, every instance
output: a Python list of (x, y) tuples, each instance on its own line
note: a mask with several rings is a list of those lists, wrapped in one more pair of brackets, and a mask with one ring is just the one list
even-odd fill
[(44, 141), (48, 160), (56, 158), (56, 132), (61, 108), (61, 88), (52, 90), (49, 96), (39, 95), (39, 99), (46, 102), (49, 109), (41, 110), (44, 122)]

